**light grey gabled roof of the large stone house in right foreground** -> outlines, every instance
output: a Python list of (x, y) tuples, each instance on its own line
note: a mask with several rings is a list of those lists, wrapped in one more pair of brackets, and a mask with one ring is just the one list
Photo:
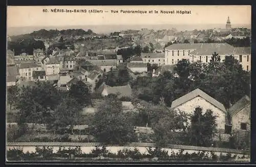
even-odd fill
[(171, 109), (191, 100), (194, 99), (196, 97), (200, 96), (201, 98), (205, 99), (206, 101), (208, 101), (209, 103), (211, 103), (212, 105), (218, 107), (219, 109), (221, 109), (223, 112), (226, 113), (226, 109), (224, 107), (224, 105), (220, 102), (218, 102), (217, 100), (215, 100), (214, 98), (210, 97), (207, 93), (203, 92), (200, 89), (195, 89), (193, 91), (190, 91), (189, 93), (185, 94), (184, 96), (176, 99), (175, 101), (172, 102), (172, 106), (170, 107)]

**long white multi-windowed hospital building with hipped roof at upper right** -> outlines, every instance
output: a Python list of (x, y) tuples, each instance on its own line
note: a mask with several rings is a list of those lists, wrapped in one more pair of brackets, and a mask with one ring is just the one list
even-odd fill
[(165, 64), (177, 64), (179, 60), (187, 59), (189, 62), (201, 61), (209, 63), (212, 54), (217, 53), (221, 61), (226, 56), (234, 56), (242, 64), (243, 69), (250, 70), (250, 47), (233, 47), (228, 43), (175, 43), (165, 47)]

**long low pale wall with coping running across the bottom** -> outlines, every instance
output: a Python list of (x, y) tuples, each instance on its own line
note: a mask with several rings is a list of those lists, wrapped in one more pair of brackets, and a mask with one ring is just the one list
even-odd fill
[[(35, 152), (35, 148), (37, 147), (53, 147), (53, 152), (57, 152), (59, 147), (65, 148), (75, 148), (81, 147), (82, 152), (90, 153), (96, 146), (103, 146), (102, 143), (99, 142), (7, 142), (7, 150), (13, 147), (23, 148), (24, 152)], [(146, 153), (148, 147), (155, 147), (155, 144), (151, 143), (141, 143), (141, 142), (133, 142), (130, 144), (126, 144), (125, 146), (110, 146), (106, 145), (106, 149), (112, 153), (117, 153), (122, 149), (134, 149), (137, 148), (141, 153)], [(224, 148), (208, 148), (208, 147), (196, 147), (196, 146), (184, 146), (184, 145), (168, 145), (164, 150), (168, 151), (168, 154), (172, 154), (172, 152), (179, 152), (179, 150), (183, 149), (184, 153), (193, 153), (198, 151), (205, 151), (207, 153), (214, 152), (216, 155), (227, 154), (231, 155), (250, 155), (248, 150), (234, 150), (234, 149), (224, 149)]]

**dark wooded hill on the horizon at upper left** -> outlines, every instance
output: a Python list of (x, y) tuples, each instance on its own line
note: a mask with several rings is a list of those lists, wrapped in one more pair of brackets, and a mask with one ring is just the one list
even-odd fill
[(68, 30), (45, 30), (41, 29), (29, 34), (11, 36), (12, 40), (18, 40), (20, 38), (55, 38), (57, 36), (82, 36), (82, 35), (94, 35), (92, 30), (84, 31), (83, 29), (68, 29)]

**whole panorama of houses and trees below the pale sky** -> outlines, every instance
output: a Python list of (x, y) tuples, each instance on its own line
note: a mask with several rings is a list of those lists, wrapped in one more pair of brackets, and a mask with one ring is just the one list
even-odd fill
[(146, 143), (233, 149), (240, 159), (250, 150), (251, 30), (229, 17), (225, 29), (41, 29), (7, 40), (12, 146)]

